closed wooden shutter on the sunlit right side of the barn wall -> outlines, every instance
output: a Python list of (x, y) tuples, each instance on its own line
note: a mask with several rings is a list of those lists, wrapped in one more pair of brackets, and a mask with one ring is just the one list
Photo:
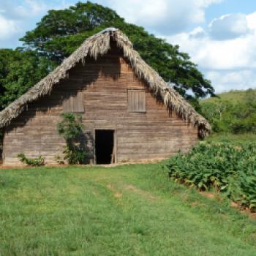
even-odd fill
[(146, 91), (128, 90), (129, 112), (146, 112)]

